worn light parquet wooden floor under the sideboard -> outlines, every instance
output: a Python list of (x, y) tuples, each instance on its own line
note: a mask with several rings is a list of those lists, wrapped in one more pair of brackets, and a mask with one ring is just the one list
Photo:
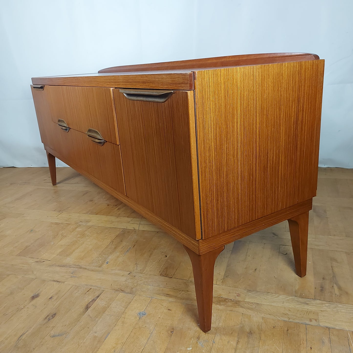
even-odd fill
[(287, 222), (226, 246), (212, 329), (171, 236), (80, 176), (0, 169), (0, 352), (353, 352), (353, 169), (321, 168), (307, 275)]

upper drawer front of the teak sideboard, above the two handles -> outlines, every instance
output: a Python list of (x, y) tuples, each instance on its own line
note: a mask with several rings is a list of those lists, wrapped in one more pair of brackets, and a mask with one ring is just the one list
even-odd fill
[(59, 119), (74, 130), (97, 130), (104, 140), (119, 144), (112, 89), (103, 87), (44, 86), (53, 122)]

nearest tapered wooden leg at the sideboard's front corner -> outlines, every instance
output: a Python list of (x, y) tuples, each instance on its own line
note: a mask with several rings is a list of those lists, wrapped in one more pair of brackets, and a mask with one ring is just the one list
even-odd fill
[(194, 274), (200, 328), (207, 332), (211, 329), (212, 319), (213, 270), (216, 258), (223, 251), (224, 246), (204, 255), (198, 255), (185, 245), (184, 247), (189, 254)]

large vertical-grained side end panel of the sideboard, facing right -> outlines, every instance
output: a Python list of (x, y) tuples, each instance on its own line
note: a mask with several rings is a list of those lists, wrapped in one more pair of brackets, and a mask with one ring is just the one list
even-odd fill
[(323, 65), (196, 72), (204, 239), (315, 196)]

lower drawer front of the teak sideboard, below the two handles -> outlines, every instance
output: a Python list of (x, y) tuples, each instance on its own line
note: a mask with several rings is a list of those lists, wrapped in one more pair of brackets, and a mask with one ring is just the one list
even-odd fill
[(51, 138), (49, 147), (72, 164), (125, 195), (120, 146), (106, 142), (102, 146), (73, 129), (68, 132), (50, 122)]

